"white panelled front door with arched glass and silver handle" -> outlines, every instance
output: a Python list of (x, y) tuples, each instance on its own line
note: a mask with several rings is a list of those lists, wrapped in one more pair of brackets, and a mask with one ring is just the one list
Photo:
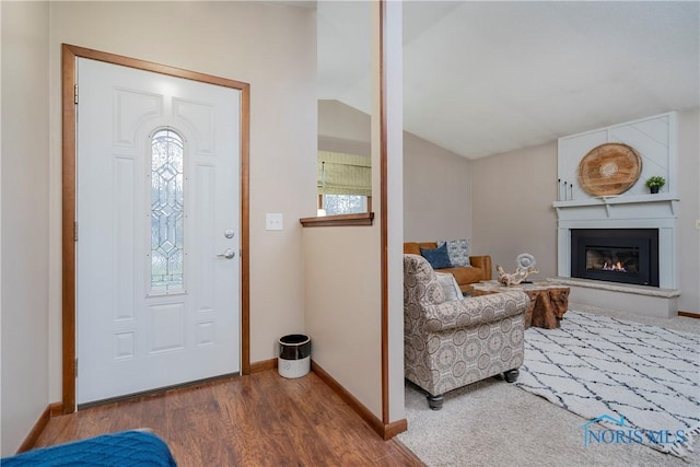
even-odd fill
[(240, 371), (240, 91), (78, 59), (77, 401)]

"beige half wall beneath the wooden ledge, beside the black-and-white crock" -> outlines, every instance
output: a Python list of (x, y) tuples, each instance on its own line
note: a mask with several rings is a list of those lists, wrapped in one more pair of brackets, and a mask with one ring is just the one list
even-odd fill
[(313, 359), (382, 413), (380, 226), (307, 227), (306, 332)]

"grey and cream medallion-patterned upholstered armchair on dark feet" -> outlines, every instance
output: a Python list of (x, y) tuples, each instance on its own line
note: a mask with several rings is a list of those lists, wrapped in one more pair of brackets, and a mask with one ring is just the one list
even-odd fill
[(523, 291), (445, 301), (425, 258), (404, 255), (405, 376), (428, 393), (431, 409), (457, 387), (500, 373), (517, 378), (528, 303)]

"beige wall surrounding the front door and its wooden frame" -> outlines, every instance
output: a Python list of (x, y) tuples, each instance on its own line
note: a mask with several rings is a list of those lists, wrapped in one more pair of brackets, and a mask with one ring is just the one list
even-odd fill
[[(316, 19), (257, 2), (51, 2), (50, 400), (60, 400), (60, 44), (250, 83), (250, 360), (304, 331), (299, 219), (315, 209)], [(265, 213), (284, 215), (265, 230)]]

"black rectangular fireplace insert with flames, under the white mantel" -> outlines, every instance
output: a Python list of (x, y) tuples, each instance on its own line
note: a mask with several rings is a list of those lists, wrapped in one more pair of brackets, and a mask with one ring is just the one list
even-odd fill
[(658, 287), (658, 229), (571, 229), (571, 277)]

